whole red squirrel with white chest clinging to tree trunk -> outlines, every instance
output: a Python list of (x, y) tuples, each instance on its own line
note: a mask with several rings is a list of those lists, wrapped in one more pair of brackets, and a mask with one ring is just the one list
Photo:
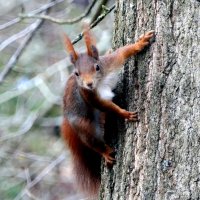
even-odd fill
[(78, 185), (95, 195), (100, 186), (101, 157), (109, 165), (115, 160), (112, 148), (104, 141), (105, 113), (113, 112), (129, 121), (138, 120), (137, 112), (127, 111), (112, 102), (118, 72), (127, 58), (149, 44), (154, 31), (104, 56), (99, 56), (89, 28), (83, 35), (86, 53), (77, 53), (64, 35), (74, 72), (67, 81), (63, 97), (62, 135), (72, 154)]

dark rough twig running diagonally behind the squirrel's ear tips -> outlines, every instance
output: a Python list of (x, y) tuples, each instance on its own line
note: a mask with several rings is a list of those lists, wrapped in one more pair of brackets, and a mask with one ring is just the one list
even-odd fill
[[(105, 9), (105, 12), (102, 13), (91, 25), (90, 29), (94, 28), (97, 24), (99, 24), (113, 9), (115, 8), (115, 5), (111, 6), (108, 9)], [(78, 41), (80, 41), (83, 38), (83, 32), (80, 33), (73, 41), (72, 44), (76, 44)]]

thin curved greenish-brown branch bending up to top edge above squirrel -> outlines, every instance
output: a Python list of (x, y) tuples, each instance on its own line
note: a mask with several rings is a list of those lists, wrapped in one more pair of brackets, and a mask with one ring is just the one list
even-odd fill
[(49, 15), (35, 15), (35, 14), (31, 14), (31, 13), (30, 14), (21, 13), (21, 14), (19, 14), (19, 17), (21, 17), (22, 19), (24, 19), (24, 18), (45, 19), (45, 20), (49, 20), (56, 24), (74, 24), (74, 23), (81, 21), (86, 16), (88, 16), (96, 2), (97, 2), (97, 0), (93, 0), (92, 3), (90, 4), (90, 6), (88, 7), (88, 9), (85, 11), (85, 13), (83, 13), (79, 17), (76, 17), (74, 19), (69, 19), (69, 20), (58, 19), (58, 18), (51, 17)]

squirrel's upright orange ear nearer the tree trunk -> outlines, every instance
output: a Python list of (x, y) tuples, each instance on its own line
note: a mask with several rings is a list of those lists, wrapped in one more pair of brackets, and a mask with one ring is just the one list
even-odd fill
[(88, 55), (92, 56), (93, 58), (98, 60), (99, 59), (99, 53), (98, 53), (98, 50), (95, 46), (94, 39), (92, 38), (92, 35), (89, 32), (88, 26), (85, 26), (85, 30), (84, 30), (83, 34), (84, 34), (84, 39), (85, 39), (85, 44), (86, 44), (86, 47), (87, 47)]

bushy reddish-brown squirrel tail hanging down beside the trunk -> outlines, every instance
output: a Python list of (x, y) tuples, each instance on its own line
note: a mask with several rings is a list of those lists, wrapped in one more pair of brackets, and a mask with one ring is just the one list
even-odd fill
[(62, 134), (72, 153), (78, 188), (90, 197), (97, 197), (101, 178), (101, 156), (81, 142), (66, 119), (62, 124)]

